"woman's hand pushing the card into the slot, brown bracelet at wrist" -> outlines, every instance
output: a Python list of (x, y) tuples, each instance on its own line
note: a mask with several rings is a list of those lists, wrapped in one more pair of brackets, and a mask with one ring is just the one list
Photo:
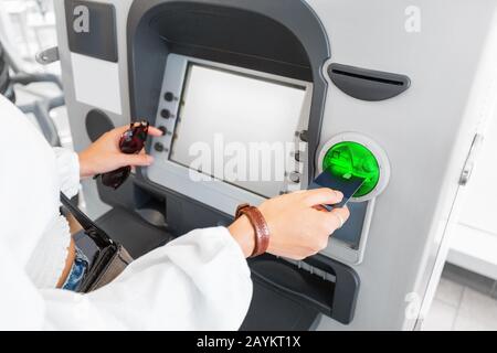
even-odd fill
[[(330, 234), (349, 218), (348, 208), (331, 212), (320, 205), (340, 203), (343, 194), (330, 189), (296, 192), (272, 199), (258, 210), (269, 227), (268, 253), (296, 260), (319, 253), (328, 246)], [(240, 217), (229, 231), (246, 257), (255, 246), (255, 233), (246, 216)]]

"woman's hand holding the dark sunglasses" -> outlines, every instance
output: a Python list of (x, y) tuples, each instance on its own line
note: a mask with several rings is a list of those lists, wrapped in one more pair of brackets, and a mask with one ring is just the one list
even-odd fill
[[(96, 142), (80, 153), (80, 176), (89, 178), (96, 174), (108, 173), (121, 167), (147, 167), (154, 162), (151, 156), (125, 154), (119, 150), (119, 140), (129, 129), (124, 126), (104, 133)], [(149, 127), (148, 135), (161, 136), (162, 131)]]

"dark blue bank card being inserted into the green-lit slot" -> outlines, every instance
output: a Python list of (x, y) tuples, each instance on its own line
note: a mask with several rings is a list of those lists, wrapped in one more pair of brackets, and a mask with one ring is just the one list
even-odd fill
[(322, 172), (316, 180), (310, 183), (309, 190), (328, 188), (340, 191), (343, 194), (343, 200), (336, 205), (322, 205), (326, 210), (331, 211), (334, 208), (341, 208), (347, 205), (350, 199), (361, 189), (364, 184), (364, 179), (352, 176), (350, 179), (334, 176), (330, 172)]

